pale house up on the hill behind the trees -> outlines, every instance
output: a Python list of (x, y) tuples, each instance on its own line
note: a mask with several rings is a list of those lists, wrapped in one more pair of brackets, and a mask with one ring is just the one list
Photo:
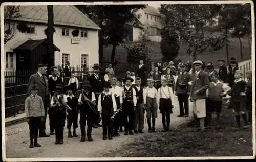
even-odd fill
[[(144, 29), (147, 29), (149, 32), (149, 38), (152, 41), (161, 41), (161, 29), (163, 28), (161, 22), (161, 14), (154, 7), (147, 6), (145, 9), (140, 9), (137, 13), (140, 15), (139, 21), (143, 27), (133, 27), (132, 29), (132, 40), (137, 41), (139, 38), (140, 32)], [(131, 40), (131, 39), (130, 39)]]

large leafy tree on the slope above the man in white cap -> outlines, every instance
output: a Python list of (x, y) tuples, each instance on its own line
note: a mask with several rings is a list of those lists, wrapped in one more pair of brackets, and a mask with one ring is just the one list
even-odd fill
[(185, 24), (186, 28), (181, 35), (188, 43), (187, 53), (195, 61), (198, 54), (217, 51), (228, 43), (224, 34), (207, 34), (209, 21), (220, 9), (218, 4), (161, 5), (160, 13), (170, 20), (169, 26), (175, 30), (181, 30)]

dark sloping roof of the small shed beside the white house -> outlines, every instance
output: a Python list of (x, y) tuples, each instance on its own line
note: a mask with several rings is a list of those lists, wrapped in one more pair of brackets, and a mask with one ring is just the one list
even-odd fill
[[(18, 50), (30, 50), (32, 51), (34, 48), (38, 47), (38, 45), (46, 43), (46, 39), (40, 39), (40, 40), (27, 40), (25, 43), (19, 45), (13, 51)], [(54, 51), (60, 51), (59, 48), (56, 47), (56, 45), (53, 44)]]

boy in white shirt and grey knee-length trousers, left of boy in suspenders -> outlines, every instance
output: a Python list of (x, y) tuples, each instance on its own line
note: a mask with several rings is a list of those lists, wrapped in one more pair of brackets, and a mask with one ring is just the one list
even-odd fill
[[(156, 132), (155, 124), (157, 118), (157, 108), (158, 108), (158, 93), (157, 89), (153, 86), (154, 80), (152, 78), (147, 79), (148, 87), (144, 90), (144, 105), (146, 110), (146, 118), (148, 124), (148, 132)], [(152, 127), (151, 127), (152, 118)]]

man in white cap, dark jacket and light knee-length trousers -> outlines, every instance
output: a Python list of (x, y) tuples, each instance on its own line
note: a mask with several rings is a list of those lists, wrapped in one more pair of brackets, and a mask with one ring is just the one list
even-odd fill
[(192, 85), (190, 90), (190, 101), (193, 102), (193, 111), (195, 116), (200, 121), (200, 130), (204, 131), (204, 118), (206, 117), (207, 97), (206, 90), (209, 87), (209, 77), (206, 72), (202, 71), (202, 61), (197, 60), (193, 62), (195, 73), (192, 76)]

